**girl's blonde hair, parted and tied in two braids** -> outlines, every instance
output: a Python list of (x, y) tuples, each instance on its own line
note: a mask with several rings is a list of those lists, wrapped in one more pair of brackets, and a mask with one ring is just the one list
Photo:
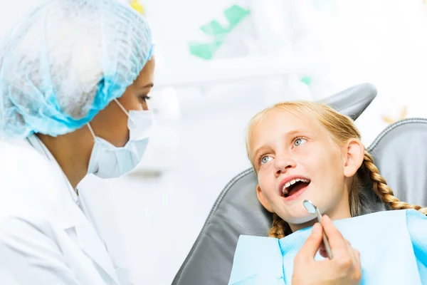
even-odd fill
[[(251, 160), (254, 170), (253, 150), (251, 150), (253, 130), (258, 123), (273, 110), (283, 110), (285, 112), (294, 113), (295, 115), (305, 115), (306, 117), (317, 119), (319, 123), (329, 131), (332, 135), (332, 139), (338, 146), (344, 145), (350, 138), (360, 140), (359, 130), (357, 130), (353, 120), (346, 115), (338, 113), (327, 105), (307, 101), (278, 103), (270, 108), (262, 110), (255, 115), (248, 124), (246, 151), (248, 152), (248, 157), (249, 160)], [(393, 190), (387, 185), (384, 177), (379, 174), (379, 170), (374, 164), (373, 157), (365, 149), (362, 165), (359, 170), (357, 170), (357, 174), (354, 175), (351, 185), (349, 185), (349, 205), (352, 217), (358, 216), (362, 212), (362, 185), (363, 182), (366, 181), (371, 183), (371, 187), (374, 189), (376, 196), (378, 196), (390, 209), (416, 209), (423, 214), (427, 214), (427, 207), (408, 204), (400, 201), (394, 196)], [(278, 214), (273, 214), (273, 224), (268, 233), (268, 237), (282, 238), (291, 232), (289, 224), (281, 219)]]

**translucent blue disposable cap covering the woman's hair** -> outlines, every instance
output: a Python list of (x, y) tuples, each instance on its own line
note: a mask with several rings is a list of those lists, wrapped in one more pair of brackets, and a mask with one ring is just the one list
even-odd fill
[(147, 21), (121, 1), (48, 1), (0, 50), (0, 135), (83, 127), (122, 96), (151, 53)]

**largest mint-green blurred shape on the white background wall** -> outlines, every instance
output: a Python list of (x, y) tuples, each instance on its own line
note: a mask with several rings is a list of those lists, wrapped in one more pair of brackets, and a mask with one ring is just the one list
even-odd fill
[(228, 27), (223, 27), (218, 21), (212, 20), (209, 24), (201, 26), (201, 31), (208, 36), (212, 36), (213, 41), (211, 41), (211, 43), (189, 43), (190, 53), (199, 58), (206, 60), (211, 59), (223, 41), (225, 41), (226, 36), (228, 36), (228, 34), (249, 14), (249, 10), (243, 9), (238, 5), (233, 5), (226, 9), (224, 15), (230, 25)]

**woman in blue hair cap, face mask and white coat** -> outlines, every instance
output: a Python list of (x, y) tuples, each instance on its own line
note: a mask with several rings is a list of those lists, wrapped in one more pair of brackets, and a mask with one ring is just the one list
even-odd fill
[(0, 50), (1, 284), (128, 284), (85, 175), (119, 177), (149, 140), (147, 22), (118, 0), (51, 0)]

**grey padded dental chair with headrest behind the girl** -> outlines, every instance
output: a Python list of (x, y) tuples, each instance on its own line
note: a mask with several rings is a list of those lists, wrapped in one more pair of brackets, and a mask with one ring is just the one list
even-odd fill
[[(355, 86), (322, 100), (354, 120), (376, 96), (370, 84)], [(383, 130), (368, 147), (381, 175), (399, 199), (427, 205), (427, 120), (401, 120)], [(271, 214), (258, 202), (257, 179), (248, 169), (234, 177), (219, 195), (199, 237), (172, 285), (228, 284), (234, 251), (241, 234), (266, 236)], [(364, 214), (385, 210), (369, 183)]]

